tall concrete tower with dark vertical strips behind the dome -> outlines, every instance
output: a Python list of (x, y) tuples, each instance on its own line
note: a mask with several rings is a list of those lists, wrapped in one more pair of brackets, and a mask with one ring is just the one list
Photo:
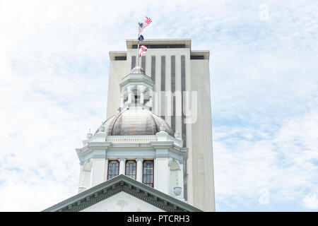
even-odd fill
[[(141, 68), (151, 76), (153, 109), (182, 134), (189, 149), (185, 162), (184, 198), (204, 211), (215, 211), (211, 88), (208, 50), (192, 50), (190, 39), (144, 40), (148, 51)], [(107, 118), (117, 114), (122, 101), (120, 83), (138, 60), (136, 40), (126, 40), (126, 51), (110, 52)]]

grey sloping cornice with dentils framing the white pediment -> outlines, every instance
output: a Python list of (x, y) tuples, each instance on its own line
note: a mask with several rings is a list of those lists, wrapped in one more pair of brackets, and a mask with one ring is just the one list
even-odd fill
[(78, 212), (93, 206), (100, 201), (110, 198), (120, 192), (125, 192), (131, 196), (141, 199), (142, 201), (155, 206), (167, 212), (198, 212), (201, 211), (194, 206), (179, 201), (177, 198), (168, 196), (161, 191), (146, 186), (134, 179), (121, 174), (102, 184), (93, 186), (76, 196), (61, 201), (44, 212)]

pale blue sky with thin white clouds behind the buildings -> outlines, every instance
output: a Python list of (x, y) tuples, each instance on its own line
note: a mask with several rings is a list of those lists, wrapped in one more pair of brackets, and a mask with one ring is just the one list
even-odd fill
[(109, 52), (209, 49), (216, 211), (318, 210), (318, 2), (0, 0), (0, 211), (77, 194), (105, 121)]

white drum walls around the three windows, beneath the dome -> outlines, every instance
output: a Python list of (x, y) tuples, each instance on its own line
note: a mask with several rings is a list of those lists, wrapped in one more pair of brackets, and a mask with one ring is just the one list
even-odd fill
[(119, 161), (119, 174), (125, 174), (126, 161), (136, 160), (136, 180), (143, 183), (143, 161), (153, 160), (153, 188), (183, 200), (183, 189), (179, 196), (174, 192), (182, 187), (187, 158), (181, 139), (165, 131), (154, 136), (107, 136), (100, 131), (83, 145), (76, 149), (81, 165), (79, 192), (107, 181), (111, 160)]

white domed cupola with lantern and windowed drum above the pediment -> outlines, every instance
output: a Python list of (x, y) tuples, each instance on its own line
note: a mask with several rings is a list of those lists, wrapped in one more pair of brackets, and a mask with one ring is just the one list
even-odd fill
[[(167, 133), (163, 119), (156, 118), (155, 121), (151, 103), (146, 106), (143, 101), (145, 92), (149, 94), (146, 98), (148, 102), (151, 100), (153, 81), (136, 67), (122, 79), (120, 88), (122, 95), (119, 112), (107, 119), (110, 122), (105, 121), (94, 136), (88, 133), (83, 148), (76, 149), (81, 165), (78, 191), (85, 191), (112, 177), (125, 174), (183, 201), (187, 148), (182, 148), (183, 141), (179, 133), (175, 133), (175, 137), (171, 136), (170, 128), (170, 133)], [(136, 100), (132, 101), (133, 97)], [(131, 114), (124, 113), (126, 111)], [(136, 114), (141, 114), (138, 121), (134, 119)], [(117, 120), (120, 121), (118, 124)], [(120, 135), (114, 136), (113, 133)], [(122, 135), (127, 133), (131, 135)], [(136, 135), (139, 133), (144, 135)], [(132, 165), (131, 168), (127, 166), (128, 163)], [(146, 164), (150, 164), (150, 167), (147, 168)], [(148, 172), (148, 176), (144, 175), (145, 172)]]

